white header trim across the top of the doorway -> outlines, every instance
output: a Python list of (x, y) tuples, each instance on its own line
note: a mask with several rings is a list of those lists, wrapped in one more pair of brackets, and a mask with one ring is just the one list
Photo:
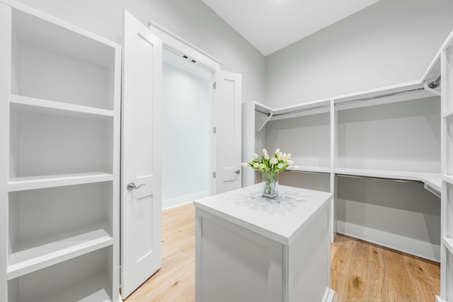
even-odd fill
[(149, 30), (164, 43), (164, 48), (173, 52), (187, 55), (190, 59), (195, 59), (197, 63), (210, 70), (219, 70), (222, 62), (219, 59), (212, 57), (210, 54), (200, 50), (195, 45), (190, 44), (181, 37), (171, 33), (154, 21), (148, 21)]

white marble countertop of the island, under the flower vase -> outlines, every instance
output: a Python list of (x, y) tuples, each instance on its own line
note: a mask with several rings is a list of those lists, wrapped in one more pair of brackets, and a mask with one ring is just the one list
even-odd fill
[[(278, 186), (275, 199), (261, 196), (261, 184), (197, 199), (194, 205), (226, 221), (289, 245), (311, 219), (327, 207), (333, 195), (297, 187)], [(328, 223), (328, 221), (326, 221)]]

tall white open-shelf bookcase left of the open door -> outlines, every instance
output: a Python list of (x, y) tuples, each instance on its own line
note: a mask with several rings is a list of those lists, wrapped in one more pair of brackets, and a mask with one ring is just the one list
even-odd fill
[(119, 301), (120, 45), (0, 1), (0, 301)]

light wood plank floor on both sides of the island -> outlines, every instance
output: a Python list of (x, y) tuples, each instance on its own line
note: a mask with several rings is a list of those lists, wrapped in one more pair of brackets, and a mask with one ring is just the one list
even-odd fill
[[(195, 301), (195, 207), (162, 212), (162, 268), (125, 302)], [(436, 262), (336, 236), (331, 252), (331, 288), (337, 302), (435, 302), (440, 293)]]

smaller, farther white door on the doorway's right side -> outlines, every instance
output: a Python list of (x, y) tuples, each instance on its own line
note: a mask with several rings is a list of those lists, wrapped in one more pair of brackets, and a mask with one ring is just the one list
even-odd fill
[(214, 193), (241, 187), (242, 76), (216, 71), (215, 112), (215, 188)]

